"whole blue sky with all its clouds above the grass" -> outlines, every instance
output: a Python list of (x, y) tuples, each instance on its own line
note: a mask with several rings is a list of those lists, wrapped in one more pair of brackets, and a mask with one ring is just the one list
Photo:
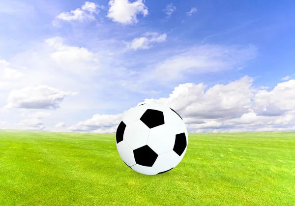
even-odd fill
[(292, 130), (294, 9), (291, 0), (2, 0), (0, 126), (114, 132), (125, 111), (158, 102), (190, 132)]

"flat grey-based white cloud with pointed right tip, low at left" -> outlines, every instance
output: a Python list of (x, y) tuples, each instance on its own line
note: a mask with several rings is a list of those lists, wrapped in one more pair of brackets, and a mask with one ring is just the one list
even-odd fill
[[(55, 110), (67, 95), (77, 95), (77, 92), (62, 91), (46, 85), (29, 86), (10, 91), (5, 108)], [(40, 113), (38, 115), (40, 116)]]

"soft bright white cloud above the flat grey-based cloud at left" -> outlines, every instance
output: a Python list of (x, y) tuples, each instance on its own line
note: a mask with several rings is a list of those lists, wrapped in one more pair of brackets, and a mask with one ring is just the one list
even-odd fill
[(97, 54), (84, 47), (67, 46), (59, 36), (45, 40), (45, 43), (53, 49), (51, 58), (63, 69), (75, 73), (95, 71), (99, 68)]

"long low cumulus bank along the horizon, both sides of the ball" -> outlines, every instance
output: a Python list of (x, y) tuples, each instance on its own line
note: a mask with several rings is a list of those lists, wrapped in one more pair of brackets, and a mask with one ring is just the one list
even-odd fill
[[(189, 132), (295, 130), (295, 80), (279, 83), (271, 91), (254, 88), (252, 83), (253, 79), (245, 76), (211, 88), (203, 83), (180, 84), (167, 98), (145, 99), (139, 104), (160, 103), (173, 108)], [(277, 108), (275, 114), (273, 108)], [(125, 113), (94, 115), (71, 130), (114, 133)]]

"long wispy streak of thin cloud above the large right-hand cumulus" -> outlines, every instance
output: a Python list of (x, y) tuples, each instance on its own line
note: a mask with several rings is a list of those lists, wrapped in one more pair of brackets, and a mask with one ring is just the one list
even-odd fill
[[(256, 56), (256, 48), (204, 45), (192, 47), (156, 65), (156, 76), (171, 81), (182, 78), (186, 73), (212, 73), (237, 68)], [(154, 75), (153, 75), (154, 76)]]

